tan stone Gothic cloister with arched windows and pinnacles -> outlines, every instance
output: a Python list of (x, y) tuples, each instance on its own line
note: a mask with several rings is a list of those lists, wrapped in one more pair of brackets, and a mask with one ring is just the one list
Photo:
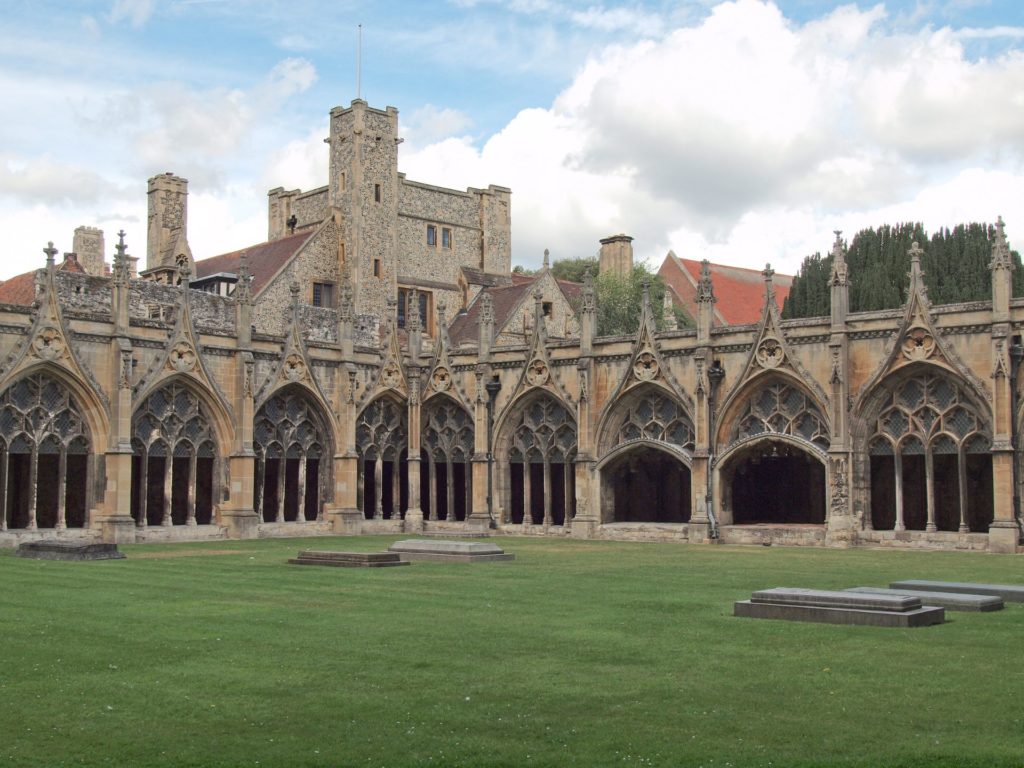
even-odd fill
[[(0, 542), (490, 530), (582, 538), (1015, 551), (1024, 300), (999, 228), (993, 299), (932, 306), (916, 247), (907, 301), (851, 313), (844, 246), (831, 314), (453, 345), (389, 305), (362, 322), (293, 287), (284, 334), (233, 296), (37, 275), (0, 305)], [(410, 301), (417, 301), (412, 292)], [(417, 304), (418, 306), (418, 304)], [(159, 311), (154, 311), (158, 307)], [(369, 330), (368, 330), (369, 329)], [(488, 418), (490, 419), (488, 423)], [(488, 437), (490, 442), (488, 443)], [(489, 473), (489, 478), (488, 478)], [(488, 482), (489, 479), (489, 482)], [(488, 493), (489, 492), (489, 493)]]

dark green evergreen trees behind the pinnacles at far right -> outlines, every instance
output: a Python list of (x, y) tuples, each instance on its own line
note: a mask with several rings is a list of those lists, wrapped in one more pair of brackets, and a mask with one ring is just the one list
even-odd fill
[[(906, 301), (910, 261), (907, 251), (916, 242), (925, 253), (928, 296), (933, 304), (984, 301), (992, 298), (988, 262), (992, 257), (995, 227), (991, 224), (958, 224), (931, 237), (921, 223), (885, 224), (862, 229), (850, 241), (846, 261), (850, 274), (850, 310), (891, 309)], [(1014, 295), (1024, 294), (1021, 257), (1012, 251)], [(830, 312), (831, 254), (816, 253), (804, 259), (782, 307), (783, 317), (816, 317)]]

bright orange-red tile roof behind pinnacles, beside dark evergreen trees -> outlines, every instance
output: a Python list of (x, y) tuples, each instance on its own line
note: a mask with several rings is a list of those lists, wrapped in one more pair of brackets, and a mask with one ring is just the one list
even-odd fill
[[(757, 269), (745, 269), (725, 264), (710, 264), (711, 281), (715, 287), (715, 317), (722, 325), (741, 326), (757, 323), (765, 303), (764, 276)], [(693, 318), (696, 317), (697, 283), (700, 280), (700, 262), (681, 259), (672, 251), (665, 257), (657, 270), (675, 294), (676, 303)], [(775, 286), (775, 303), (779, 308), (790, 295), (793, 275), (778, 272), (772, 278)]]

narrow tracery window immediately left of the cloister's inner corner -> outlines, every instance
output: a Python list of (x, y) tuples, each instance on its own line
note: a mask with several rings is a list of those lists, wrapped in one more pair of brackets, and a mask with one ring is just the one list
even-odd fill
[[(401, 516), (402, 462), (408, 445), (406, 409), (388, 397), (380, 397), (364, 409), (355, 422), (355, 449), (359, 454), (359, 487), (367, 517), (383, 519), (385, 511), (396, 520)], [(373, 494), (367, 494), (367, 483)], [(384, 495), (384, 488), (389, 494)], [(408, 490), (407, 490), (408, 499)]]

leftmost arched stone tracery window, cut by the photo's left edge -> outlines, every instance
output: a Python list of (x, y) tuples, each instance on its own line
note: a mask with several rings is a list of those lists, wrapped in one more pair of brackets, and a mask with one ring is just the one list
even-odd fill
[(45, 373), (0, 395), (0, 530), (85, 524), (88, 428), (68, 388)]

